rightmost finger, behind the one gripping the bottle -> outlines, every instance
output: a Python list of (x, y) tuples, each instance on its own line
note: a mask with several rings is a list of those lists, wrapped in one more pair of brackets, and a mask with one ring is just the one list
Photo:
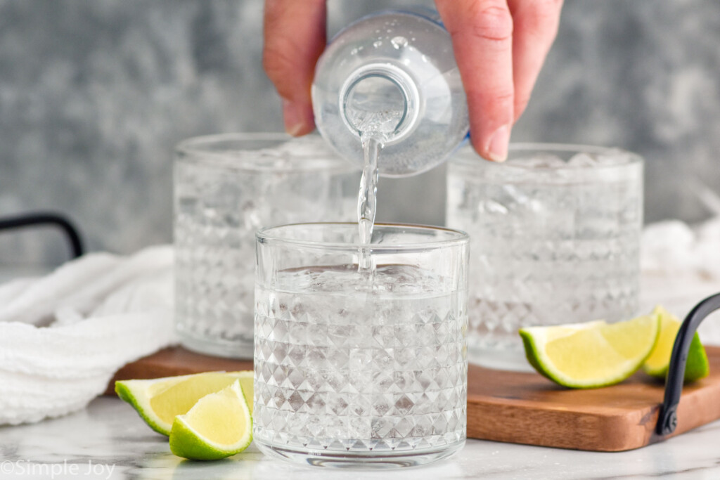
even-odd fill
[(508, 0), (513, 15), (514, 119), (521, 116), (557, 35), (562, 0)]

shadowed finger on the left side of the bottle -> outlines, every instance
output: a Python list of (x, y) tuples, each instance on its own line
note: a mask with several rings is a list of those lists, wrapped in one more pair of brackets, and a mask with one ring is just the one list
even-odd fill
[(263, 65), (282, 96), (285, 130), (315, 129), (310, 86), (325, 49), (325, 0), (266, 0)]

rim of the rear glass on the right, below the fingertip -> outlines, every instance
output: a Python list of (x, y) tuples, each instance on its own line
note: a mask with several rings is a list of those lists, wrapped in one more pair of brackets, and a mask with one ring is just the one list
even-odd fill
[[(588, 171), (589, 169), (585, 168), (576, 168), (572, 166), (562, 166), (562, 167), (534, 167), (534, 166), (524, 166), (524, 165), (513, 165), (510, 163), (504, 163), (504, 162), (489, 162), (489, 161), (483, 161), (482, 163), (478, 163), (477, 160), (482, 160), (477, 153), (474, 153), (474, 150), (472, 150), (472, 147), (467, 147), (470, 150), (463, 149), (461, 150), (457, 155), (454, 155), (450, 159), (451, 162), (462, 164), (463, 166), (483, 166), (485, 168), (497, 168), (497, 167), (503, 167), (503, 168), (516, 168), (518, 170), (532, 170), (532, 171), (559, 171), (559, 170), (572, 170), (572, 171)], [(624, 150), (623, 148), (616, 148), (616, 147), (601, 147), (599, 145), (583, 145), (580, 143), (544, 143), (544, 142), (519, 142), (519, 143), (510, 143), (510, 146), (508, 148), (509, 153), (513, 152), (525, 152), (525, 151), (537, 151), (537, 152), (573, 152), (573, 153), (611, 153), (611, 152), (618, 152), (622, 153), (627, 156), (628, 161), (625, 163), (620, 164), (614, 164), (614, 165), (598, 165), (594, 166), (592, 168), (593, 171), (596, 171), (598, 169), (623, 169), (628, 168), (630, 166), (637, 165), (638, 163), (643, 163), (644, 160), (642, 156), (640, 156), (637, 153), (631, 152), (630, 150)], [(469, 155), (467, 155), (465, 152), (472, 151), (474, 153), (474, 156), (477, 158), (469, 158)]]

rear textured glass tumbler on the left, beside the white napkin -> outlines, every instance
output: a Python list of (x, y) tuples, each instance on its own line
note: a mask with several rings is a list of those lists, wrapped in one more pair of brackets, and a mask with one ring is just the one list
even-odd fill
[(182, 345), (252, 358), (255, 232), (356, 218), (360, 174), (317, 135), (197, 137), (176, 148), (176, 330)]

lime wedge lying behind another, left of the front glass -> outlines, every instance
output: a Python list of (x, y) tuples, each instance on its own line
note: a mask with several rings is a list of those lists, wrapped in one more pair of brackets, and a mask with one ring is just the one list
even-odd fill
[(117, 396), (132, 405), (150, 428), (170, 435), (176, 415), (183, 415), (207, 394), (215, 393), (240, 381), (252, 411), (253, 372), (208, 372), (194, 375), (168, 376), (152, 380), (121, 380), (115, 382)]

